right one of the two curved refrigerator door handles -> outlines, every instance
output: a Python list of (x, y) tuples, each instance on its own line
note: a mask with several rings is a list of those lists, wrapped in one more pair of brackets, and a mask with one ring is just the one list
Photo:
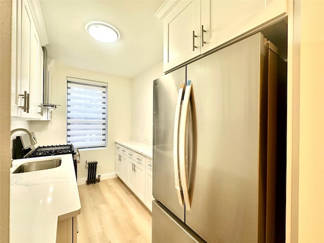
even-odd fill
[(191, 95), (191, 80), (187, 80), (187, 85), (183, 97), (183, 102), (181, 106), (181, 115), (180, 115), (180, 127), (179, 127), (179, 161), (180, 161), (180, 179), (182, 185), (182, 193), (184, 197), (184, 203), (186, 205), (186, 209), (190, 210), (190, 198), (188, 192), (188, 178), (187, 178), (187, 166), (186, 166), (186, 124), (187, 124), (187, 114), (190, 102)]

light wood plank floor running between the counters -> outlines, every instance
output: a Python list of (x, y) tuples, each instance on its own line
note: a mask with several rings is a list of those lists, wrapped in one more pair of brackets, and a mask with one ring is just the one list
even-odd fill
[(78, 186), (78, 243), (151, 242), (151, 212), (119, 178)]

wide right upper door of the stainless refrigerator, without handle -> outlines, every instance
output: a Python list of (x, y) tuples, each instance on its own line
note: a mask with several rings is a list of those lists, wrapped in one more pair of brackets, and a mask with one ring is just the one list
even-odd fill
[(197, 151), (185, 223), (208, 242), (264, 242), (266, 53), (258, 33), (187, 66)]

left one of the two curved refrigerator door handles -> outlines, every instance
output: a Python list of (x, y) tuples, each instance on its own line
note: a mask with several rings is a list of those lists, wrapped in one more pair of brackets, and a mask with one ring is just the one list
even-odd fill
[(177, 195), (179, 204), (183, 206), (183, 195), (182, 195), (182, 188), (181, 188), (181, 182), (179, 178), (179, 121), (180, 121), (180, 111), (181, 111), (181, 101), (182, 96), (184, 93), (185, 83), (182, 82), (180, 85), (179, 93), (178, 93), (178, 99), (177, 99), (177, 105), (176, 105), (176, 114), (174, 119), (174, 131), (173, 131), (173, 165), (174, 165), (174, 183), (175, 188), (177, 189)]

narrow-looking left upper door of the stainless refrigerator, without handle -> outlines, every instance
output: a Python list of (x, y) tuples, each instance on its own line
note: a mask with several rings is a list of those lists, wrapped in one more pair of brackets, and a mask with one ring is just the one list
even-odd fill
[(175, 188), (173, 157), (175, 112), (182, 82), (186, 82), (185, 67), (154, 80), (153, 197), (184, 221), (184, 207)]

